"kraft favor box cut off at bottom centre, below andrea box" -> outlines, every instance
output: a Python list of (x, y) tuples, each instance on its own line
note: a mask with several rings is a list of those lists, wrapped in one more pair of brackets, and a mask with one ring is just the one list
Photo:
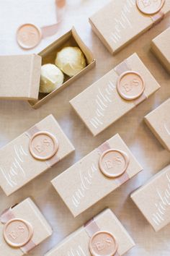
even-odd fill
[[(113, 235), (115, 239), (108, 236), (107, 232)], [(92, 236), (96, 236), (95, 241)], [(133, 239), (115, 214), (107, 209), (73, 232), (45, 256), (91, 256), (90, 245), (92, 245), (95, 252), (100, 252), (99, 255), (113, 255), (109, 252), (114, 252), (114, 242), (116, 242), (118, 248), (114, 254), (115, 256), (124, 255), (125, 252), (135, 246)], [(105, 253), (106, 249), (107, 254)]]

